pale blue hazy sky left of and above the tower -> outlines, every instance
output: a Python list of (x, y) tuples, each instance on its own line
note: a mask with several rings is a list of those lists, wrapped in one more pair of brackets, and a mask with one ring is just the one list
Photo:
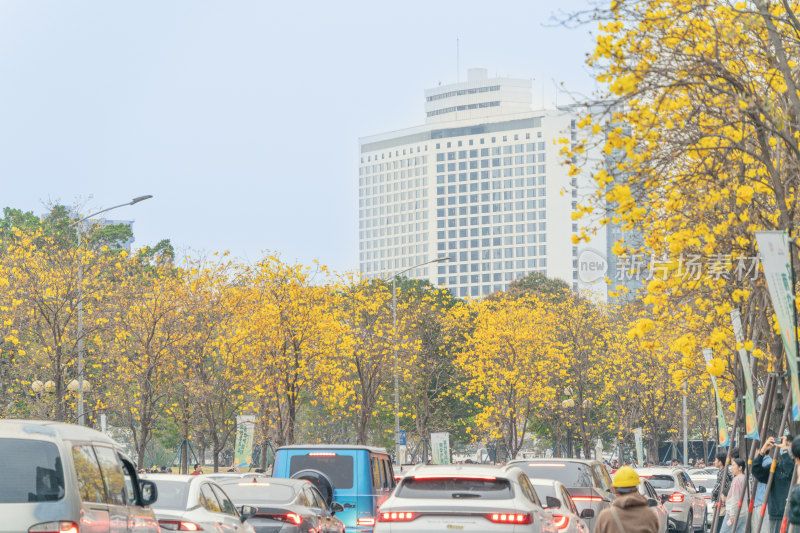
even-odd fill
[(357, 269), (359, 137), (470, 67), (591, 94), (589, 1), (0, 0), (0, 207), (152, 194), (134, 247)]

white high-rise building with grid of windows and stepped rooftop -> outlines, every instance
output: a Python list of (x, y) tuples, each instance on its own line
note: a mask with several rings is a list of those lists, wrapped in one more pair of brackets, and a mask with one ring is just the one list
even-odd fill
[(537, 271), (607, 298), (605, 276), (579, 276), (579, 255), (608, 257), (606, 229), (572, 243), (570, 215), (592, 182), (569, 176), (555, 142), (576, 140), (577, 111), (534, 110), (529, 80), (485, 69), (425, 99), (423, 125), (360, 139), (361, 272), (390, 277), (449, 256), (406, 275), (482, 297)]

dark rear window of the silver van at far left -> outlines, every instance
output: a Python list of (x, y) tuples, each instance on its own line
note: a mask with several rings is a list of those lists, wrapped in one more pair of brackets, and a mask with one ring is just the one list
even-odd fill
[(48, 502), (64, 497), (58, 447), (32, 439), (0, 439), (0, 504)]

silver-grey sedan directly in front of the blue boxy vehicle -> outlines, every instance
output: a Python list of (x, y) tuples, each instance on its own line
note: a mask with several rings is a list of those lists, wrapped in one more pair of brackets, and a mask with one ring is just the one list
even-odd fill
[(250, 506), (255, 512), (248, 522), (256, 533), (344, 533), (336, 518), (344, 508), (331, 507), (310, 481), (304, 479), (227, 479), (220, 486), (234, 505)]

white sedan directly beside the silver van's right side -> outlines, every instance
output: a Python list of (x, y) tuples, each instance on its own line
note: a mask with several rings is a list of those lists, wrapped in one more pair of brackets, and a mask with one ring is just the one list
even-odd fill
[(160, 495), (153, 508), (161, 531), (212, 531), (254, 533), (247, 516), (255, 509), (239, 510), (219, 485), (206, 476), (151, 474), (148, 479)]

